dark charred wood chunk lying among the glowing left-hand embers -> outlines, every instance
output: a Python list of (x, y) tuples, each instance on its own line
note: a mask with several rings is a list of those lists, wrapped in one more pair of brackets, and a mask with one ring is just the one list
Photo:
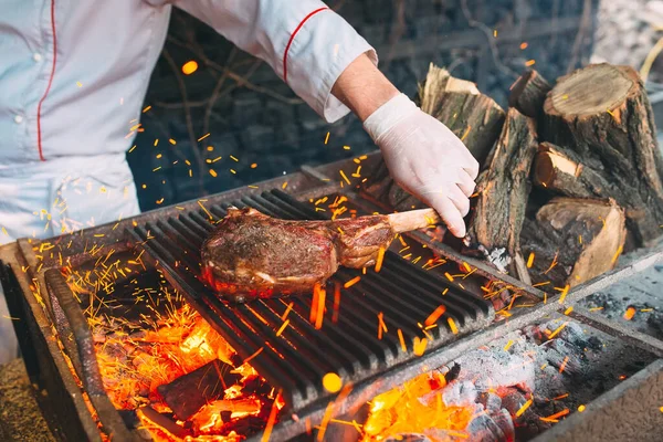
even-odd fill
[(191, 371), (170, 383), (160, 386), (157, 391), (178, 419), (187, 420), (202, 406), (223, 394), (236, 383), (241, 376), (231, 373), (232, 367), (217, 359)]

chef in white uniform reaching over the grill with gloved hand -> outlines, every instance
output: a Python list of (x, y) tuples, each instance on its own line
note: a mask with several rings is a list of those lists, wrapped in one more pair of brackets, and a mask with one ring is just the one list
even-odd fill
[[(262, 59), (328, 123), (350, 110), (406, 190), (465, 233), (478, 165), (319, 0), (0, 0), (0, 244), (139, 212), (125, 157), (172, 7)], [(17, 354), (0, 295), (0, 362)]]

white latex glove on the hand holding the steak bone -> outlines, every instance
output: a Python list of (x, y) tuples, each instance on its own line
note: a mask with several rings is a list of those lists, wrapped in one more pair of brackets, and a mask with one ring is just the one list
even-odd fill
[(435, 209), (451, 233), (464, 236), (478, 162), (463, 141), (403, 94), (366, 118), (364, 128), (396, 182)]

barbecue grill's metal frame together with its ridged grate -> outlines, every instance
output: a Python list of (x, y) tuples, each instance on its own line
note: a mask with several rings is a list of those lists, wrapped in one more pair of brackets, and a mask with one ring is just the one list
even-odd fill
[[(370, 156), (364, 162), (365, 168), (370, 170), (379, 159), (377, 155)], [(352, 166), (351, 161), (341, 161), (316, 169), (305, 168), (293, 176), (251, 188), (165, 208), (80, 233), (44, 241), (19, 240), (0, 249), (0, 259), (4, 263), (0, 266), (0, 278), (12, 316), (21, 318), (15, 328), (25, 365), (32, 380), (49, 392), (48, 397), (40, 398), (40, 402), (55, 433), (66, 440), (102, 440), (97, 423), (82, 400), (83, 388), (107, 432), (117, 440), (136, 438), (135, 431), (126, 427), (104, 392), (98, 368), (95, 369), (92, 335), (60, 273), (63, 260), (81, 266), (90, 261), (91, 251), (101, 248), (118, 253), (141, 251), (148, 264), (146, 274), (154, 270), (161, 272), (243, 359), (251, 358), (251, 365), (282, 391), (286, 417), (291, 418), (273, 429), (274, 440), (297, 436), (306, 431), (307, 425), (318, 424), (333, 401), (337, 401), (335, 414), (350, 412), (373, 396), (422, 371), (446, 364), (485, 345), (495, 336), (562, 308), (558, 303), (559, 296), (546, 297), (535, 287), (525, 286), (478, 261), (462, 256), (422, 232), (408, 234), (406, 240), (422, 255), (444, 257), (444, 265), (423, 270), (421, 265), (403, 260), (392, 248), (387, 252), (379, 273), (341, 269), (330, 286), (339, 287), (357, 276), (360, 281), (344, 288), (340, 299), (338, 295), (326, 297), (325, 307), (327, 312), (336, 311), (336, 320), (327, 315), (320, 329), (308, 320), (311, 297), (275, 298), (230, 306), (201, 282), (201, 243), (213, 229), (213, 221), (221, 219), (229, 207), (252, 207), (265, 214), (292, 220), (327, 219), (325, 212), (316, 211), (307, 201), (343, 194), (354, 204), (357, 214), (378, 210), (376, 202), (361, 194), (357, 187), (334, 183), (327, 178)], [(282, 190), (285, 182), (287, 193)], [(576, 287), (566, 295), (566, 304), (653, 265), (662, 255), (654, 253), (636, 264)], [(457, 272), (461, 265), (473, 269), (462, 283), (445, 276), (450, 270)], [(486, 280), (511, 286), (519, 293), (519, 299), (535, 306), (514, 311), (507, 320), (497, 320), (492, 303), (481, 296), (478, 288)], [(291, 303), (291, 326), (280, 330), (281, 317)], [(422, 336), (419, 323), (440, 305), (446, 307), (445, 313), (438, 319), (438, 326), (427, 332), (432, 339), (423, 356), (415, 356), (411, 351), (411, 343)], [(380, 313), (402, 337), (394, 333), (377, 336)], [(624, 332), (609, 323), (599, 324), (581, 312), (575, 317), (621, 336), (657, 357), (663, 356), (663, 343), (654, 338)], [(54, 339), (53, 327), (63, 348)], [(651, 376), (642, 375), (642, 382), (653, 382), (652, 386), (660, 389), (661, 377), (652, 375), (659, 371), (655, 367), (648, 370)], [(323, 377), (329, 372), (339, 375), (344, 383), (351, 385), (351, 390), (345, 391), (341, 400), (338, 400), (338, 392), (327, 391), (323, 386)], [(624, 390), (613, 394), (623, 397), (629, 393), (630, 390)], [(57, 407), (53, 407), (49, 398), (56, 398)], [(600, 414), (592, 419), (600, 420)]]

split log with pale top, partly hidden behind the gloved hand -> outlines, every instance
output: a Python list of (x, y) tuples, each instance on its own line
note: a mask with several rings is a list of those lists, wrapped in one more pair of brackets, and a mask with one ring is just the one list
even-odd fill
[[(444, 123), (477, 159), (480, 165), (499, 136), (505, 113), (495, 101), (482, 94), (472, 82), (455, 78), (431, 63), (417, 97), (421, 109)], [(443, 161), (443, 158), (431, 158)], [(396, 185), (383, 162), (364, 187), (367, 193), (398, 211), (425, 207)]]

